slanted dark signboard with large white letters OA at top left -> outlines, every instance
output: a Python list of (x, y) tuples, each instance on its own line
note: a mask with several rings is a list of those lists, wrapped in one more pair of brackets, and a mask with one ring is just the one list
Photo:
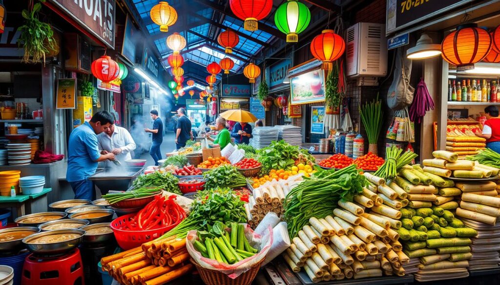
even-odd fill
[(114, 0), (49, 0), (107, 47), (114, 48)]

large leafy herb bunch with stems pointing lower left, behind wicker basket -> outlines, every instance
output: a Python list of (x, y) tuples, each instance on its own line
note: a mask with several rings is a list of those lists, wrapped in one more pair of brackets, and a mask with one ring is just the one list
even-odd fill
[(192, 230), (209, 231), (217, 222), (223, 224), (246, 223), (245, 202), (228, 188), (214, 188), (198, 193), (191, 204), (189, 216), (161, 238), (185, 238)]

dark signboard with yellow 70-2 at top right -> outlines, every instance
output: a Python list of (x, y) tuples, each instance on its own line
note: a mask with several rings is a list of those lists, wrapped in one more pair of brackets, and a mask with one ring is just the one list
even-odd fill
[(473, 0), (387, 0), (385, 33), (403, 29)]

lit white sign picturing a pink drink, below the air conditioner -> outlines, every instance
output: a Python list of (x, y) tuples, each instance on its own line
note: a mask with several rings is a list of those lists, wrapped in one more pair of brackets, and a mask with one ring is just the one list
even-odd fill
[(290, 104), (306, 104), (324, 101), (324, 73), (312, 70), (290, 78)]

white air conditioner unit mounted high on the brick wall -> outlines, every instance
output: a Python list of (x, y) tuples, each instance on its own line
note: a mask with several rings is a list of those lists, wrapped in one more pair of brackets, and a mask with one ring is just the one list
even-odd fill
[(385, 25), (356, 23), (346, 32), (347, 76), (387, 75)]

